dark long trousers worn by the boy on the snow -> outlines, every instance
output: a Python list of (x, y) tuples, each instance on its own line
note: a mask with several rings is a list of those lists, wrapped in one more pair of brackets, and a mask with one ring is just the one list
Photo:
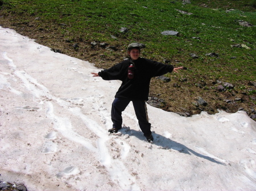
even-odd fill
[(125, 108), (130, 103), (130, 101), (133, 101), (134, 111), (139, 121), (139, 127), (141, 128), (142, 132), (144, 133), (144, 135), (151, 134), (151, 124), (148, 122), (147, 107), (145, 101), (143, 100), (115, 98), (112, 103), (111, 110), (113, 128), (122, 128), (122, 112), (125, 111)]

